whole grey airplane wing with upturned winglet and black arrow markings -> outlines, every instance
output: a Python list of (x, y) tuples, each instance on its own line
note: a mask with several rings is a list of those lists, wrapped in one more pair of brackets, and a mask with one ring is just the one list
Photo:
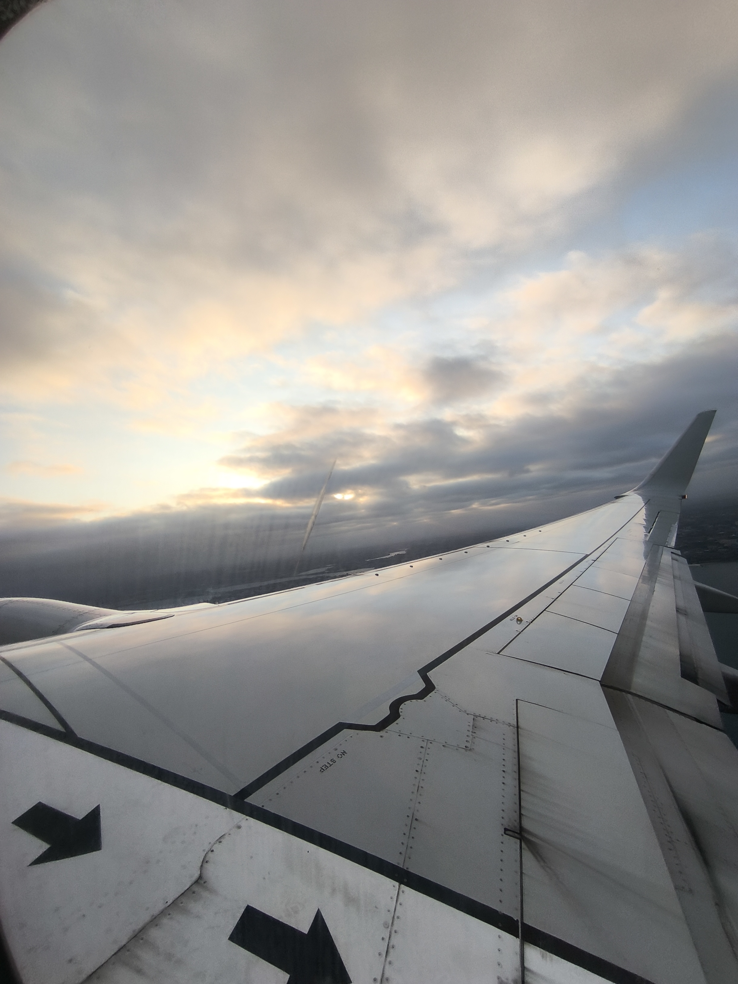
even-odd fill
[(738, 752), (674, 549), (712, 416), (572, 519), (0, 649), (18, 979), (738, 981)]

